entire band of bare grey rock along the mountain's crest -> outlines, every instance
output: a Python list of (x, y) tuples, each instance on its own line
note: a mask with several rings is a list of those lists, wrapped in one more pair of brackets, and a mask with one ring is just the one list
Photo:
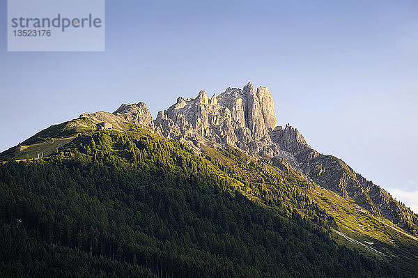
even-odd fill
[(318, 153), (291, 125), (277, 126), (272, 94), (267, 87), (255, 90), (248, 83), (242, 89), (227, 88), (211, 98), (202, 90), (196, 98), (179, 97), (155, 120), (144, 102), (121, 105), (109, 115), (99, 113), (102, 114), (83, 115), (90, 115), (94, 121), (107, 117), (119, 125), (146, 126), (164, 137), (183, 141), (198, 152), (202, 144), (213, 148), (229, 145), (255, 157), (281, 157), (318, 185), (343, 197), (350, 196), (373, 215), (418, 233), (418, 216), (385, 190), (355, 173), (339, 158)]

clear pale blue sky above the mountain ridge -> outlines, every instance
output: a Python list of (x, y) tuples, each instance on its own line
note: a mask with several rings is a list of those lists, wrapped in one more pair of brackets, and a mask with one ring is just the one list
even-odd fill
[[(268, 86), (277, 121), (418, 212), (418, 1), (111, 1), (105, 52), (6, 52), (0, 150), (83, 112)], [(396, 193), (396, 194), (395, 194)]]

